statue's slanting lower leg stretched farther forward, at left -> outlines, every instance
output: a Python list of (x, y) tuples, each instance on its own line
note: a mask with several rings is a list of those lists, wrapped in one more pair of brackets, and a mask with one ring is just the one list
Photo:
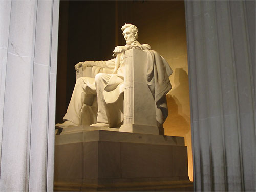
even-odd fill
[[(63, 119), (73, 122), (76, 125), (81, 124), (81, 110), (85, 102), (90, 103), (87, 94), (96, 95), (96, 89), (88, 87), (89, 80), (94, 83), (94, 78), (80, 77), (77, 79), (73, 94), (67, 109), (66, 115)], [(86, 101), (87, 100), (87, 101)]]

